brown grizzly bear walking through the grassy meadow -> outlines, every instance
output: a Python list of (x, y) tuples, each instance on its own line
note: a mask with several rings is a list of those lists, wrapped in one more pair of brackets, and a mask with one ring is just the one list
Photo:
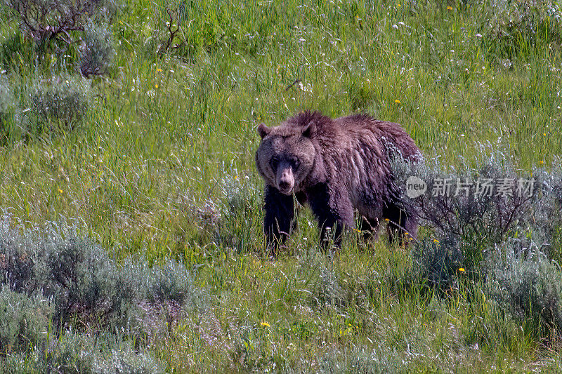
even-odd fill
[(278, 246), (296, 225), (293, 194), (308, 204), (320, 227), (320, 239), (341, 243), (344, 227), (355, 227), (355, 210), (362, 231), (373, 232), (388, 220), (391, 241), (400, 233), (417, 233), (415, 212), (403, 211), (391, 158), (416, 162), (419, 148), (398, 123), (366, 114), (331, 119), (320, 112), (301, 112), (280, 126), (258, 126), (261, 143), (256, 166), (265, 181), (263, 229), (275, 257)]

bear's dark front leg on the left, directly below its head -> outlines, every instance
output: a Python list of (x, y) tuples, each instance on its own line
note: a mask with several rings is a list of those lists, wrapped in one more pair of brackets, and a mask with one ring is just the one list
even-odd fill
[(280, 244), (285, 243), (291, 234), (294, 220), (294, 201), (292, 195), (285, 195), (270, 185), (265, 188), (266, 212), (263, 218), (263, 231), (270, 254), (275, 257)]

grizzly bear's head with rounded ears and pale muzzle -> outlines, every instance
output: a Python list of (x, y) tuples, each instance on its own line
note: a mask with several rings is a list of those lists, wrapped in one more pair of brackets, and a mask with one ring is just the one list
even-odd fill
[(261, 143), (256, 152), (256, 166), (266, 183), (282, 194), (290, 195), (313, 170), (316, 150), (311, 140), (314, 123), (307, 126), (274, 128), (261, 123)]

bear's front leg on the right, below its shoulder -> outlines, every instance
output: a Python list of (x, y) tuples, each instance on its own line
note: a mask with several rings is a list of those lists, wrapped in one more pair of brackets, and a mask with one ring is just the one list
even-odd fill
[(308, 190), (308, 203), (318, 218), (320, 241), (323, 247), (334, 238), (334, 245), (341, 246), (344, 227), (354, 227), (353, 205), (347, 192), (318, 183)]

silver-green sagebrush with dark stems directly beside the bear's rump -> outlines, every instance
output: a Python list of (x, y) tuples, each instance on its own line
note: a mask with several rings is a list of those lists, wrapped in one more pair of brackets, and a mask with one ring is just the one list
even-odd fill
[[(541, 188), (542, 179), (516, 171), (514, 161), (502, 152), (483, 154), (472, 162), (462, 159), (457, 168), (445, 168), (438, 159), (417, 164), (395, 159), (393, 170), (405, 210), (415, 212), (438, 239), (455, 238), (469, 269), (481, 262), (485, 248), (532, 227), (533, 212), (551, 199)], [(411, 176), (426, 184), (421, 196), (407, 197)], [(493, 185), (489, 192), (485, 181)]]

